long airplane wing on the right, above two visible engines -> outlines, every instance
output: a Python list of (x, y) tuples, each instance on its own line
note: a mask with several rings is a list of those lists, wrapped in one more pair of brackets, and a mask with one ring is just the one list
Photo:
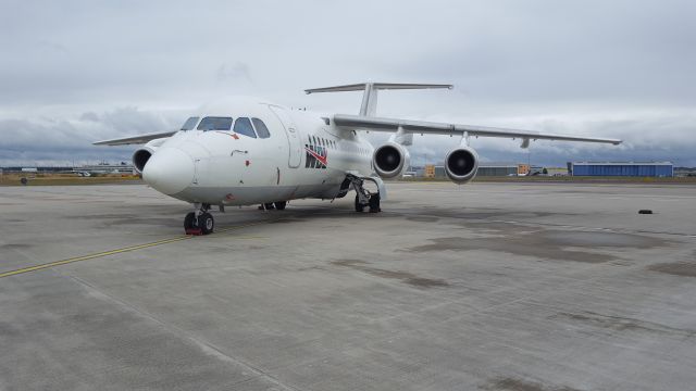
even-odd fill
[(371, 117), (364, 115), (335, 114), (334, 123), (337, 126), (347, 127), (357, 130), (388, 131), (395, 133), (403, 129), (406, 134), (428, 134), (428, 135), (457, 135), (463, 136), (468, 134), (474, 137), (501, 137), (512, 139), (526, 140), (561, 140), (561, 141), (585, 141), (585, 142), (602, 142), (618, 146), (622, 140), (595, 138), (595, 137), (577, 137), (572, 135), (556, 135), (532, 130), (506, 129), (487, 126), (459, 125), (434, 123), (424, 121), (398, 119)]

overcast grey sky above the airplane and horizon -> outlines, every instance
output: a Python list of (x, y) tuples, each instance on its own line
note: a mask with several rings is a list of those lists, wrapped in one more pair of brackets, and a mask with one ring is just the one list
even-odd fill
[[(619, 148), (480, 139), (484, 161), (670, 160), (696, 166), (694, 1), (0, 0), (0, 165), (129, 160), (95, 140), (175, 129), (225, 94), (378, 114), (622, 138)], [(378, 142), (378, 140), (375, 140)], [(456, 141), (417, 137), (414, 163)]]

